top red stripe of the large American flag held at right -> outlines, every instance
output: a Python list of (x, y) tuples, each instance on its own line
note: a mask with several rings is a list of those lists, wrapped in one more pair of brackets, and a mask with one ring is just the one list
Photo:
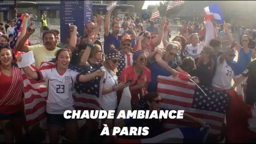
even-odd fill
[(164, 85), (178, 86), (178, 87), (187, 88), (187, 89), (190, 89), (190, 90), (195, 90), (195, 88), (196, 88), (195, 85), (181, 83), (181, 82), (176, 81), (176, 80), (165, 80), (165, 79), (162, 79), (162, 78), (158, 79), (158, 83), (161, 83), (161, 84), (164, 84)]

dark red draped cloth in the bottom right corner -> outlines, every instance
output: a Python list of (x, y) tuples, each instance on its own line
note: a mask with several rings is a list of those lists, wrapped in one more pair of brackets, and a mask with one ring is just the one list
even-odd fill
[(228, 91), (230, 95), (227, 108), (226, 137), (230, 143), (246, 143), (256, 139), (256, 107), (247, 105), (242, 96), (234, 90)]

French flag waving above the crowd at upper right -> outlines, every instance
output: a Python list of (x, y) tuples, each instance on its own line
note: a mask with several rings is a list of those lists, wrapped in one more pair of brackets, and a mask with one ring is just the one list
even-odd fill
[(204, 8), (204, 16), (205, 19), (216, 19), (220, 24), (224, 23), (224, 19), (222, 16), (221, 8), (218, 3), (210, 5)]

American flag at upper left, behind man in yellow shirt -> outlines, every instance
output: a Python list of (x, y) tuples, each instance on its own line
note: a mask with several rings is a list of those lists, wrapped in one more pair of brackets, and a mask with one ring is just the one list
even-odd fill
[[(14, 32), (13, 32), (13, 41), (11, 42), (10, 47), (14, 48), (16, 45), (17, 40), (19, 39), (19, 37), (21, 36), (21, 30), (23, 28), (23, 19), (24, 19), (25, 14), (22, 14), (22, 16), (17, 20), (16, 22), (16, 26), (14, 28)], [(27, 40), (24, 45), (29, 45), (29, 40)], [(16, 53), (16, 49), (14, 49), (14, 52)]]

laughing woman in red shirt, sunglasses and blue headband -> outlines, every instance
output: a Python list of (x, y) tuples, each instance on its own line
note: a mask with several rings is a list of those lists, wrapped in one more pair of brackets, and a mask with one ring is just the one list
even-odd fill
[(147, 56), (143, 51), (135, 51), (133, 54), (133, 65), (126, 67), (120, 77), (120, 81), (130, 82), (131, 102), (138, 101), (147, 92), (147, 85), (151, 81), (150, 70), (146, 67)]

